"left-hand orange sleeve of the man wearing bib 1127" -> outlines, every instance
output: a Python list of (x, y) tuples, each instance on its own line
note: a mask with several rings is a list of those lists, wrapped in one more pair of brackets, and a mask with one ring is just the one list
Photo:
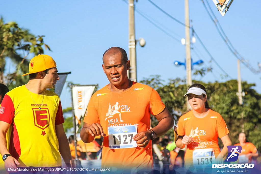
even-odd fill
[(99, 123), (100, 124), (100, 120), (99, 120), (99, 115), (98, 112), (96, 110), (96, 104), (97, 104), (97, 99), (94, 98), (94, 95), (92, 95), (86, 113), (85, 113), (85, 117), (84, 117), (84, 122), (87, 124), (92, 124), (92, 123)]

